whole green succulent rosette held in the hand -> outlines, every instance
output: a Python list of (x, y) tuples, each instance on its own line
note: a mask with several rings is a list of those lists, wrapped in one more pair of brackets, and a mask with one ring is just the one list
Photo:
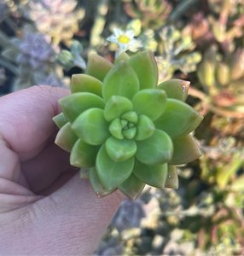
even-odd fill
[(184, 103), (189, 82), (157, 82), (150, 51), (124, 52), (114, 65), (90, 55), (86, 74), (74, 74), (72, 94), (60, 100), (55, 143), (71, 153), (98, 198), (119, 189), (135, 200), (146, 183), (177, 189), (176, 165), (200, 157), (189, 133), (203, 117)]

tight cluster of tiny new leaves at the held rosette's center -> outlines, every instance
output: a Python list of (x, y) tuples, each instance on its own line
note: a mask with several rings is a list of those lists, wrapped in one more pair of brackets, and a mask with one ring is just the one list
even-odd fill
[(136, 112), (127, 112), (120, 118), (113, 119), (109, 126), (109, 131), (113, 137), (122, 140), (124, 138), (132, 139), (137, 135), (138, 117)]

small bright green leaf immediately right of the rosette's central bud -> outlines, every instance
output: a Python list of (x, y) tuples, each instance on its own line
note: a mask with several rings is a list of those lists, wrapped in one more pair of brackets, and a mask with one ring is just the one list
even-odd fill
[(142, 141), (151, 137), (155, 131), (154, 123), (146, 115), (139, 115), (139, 120), (137, 124), (137, 135), (135, 140)]

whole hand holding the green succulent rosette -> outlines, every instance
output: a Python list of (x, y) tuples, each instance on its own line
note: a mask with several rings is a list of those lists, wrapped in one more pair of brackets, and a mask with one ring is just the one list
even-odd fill
[(93, 255), (125, 199), (97, 199), (55, 145), (52, 118), (68, 94), (42, 85), (0, 98), (1, 255)]

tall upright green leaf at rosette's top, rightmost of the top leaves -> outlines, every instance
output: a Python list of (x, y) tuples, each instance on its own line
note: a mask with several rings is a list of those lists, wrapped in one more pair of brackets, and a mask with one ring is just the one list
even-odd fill
[(137, 73), (140, 82), (140, 90), (156, 88), (159, 72), (154, 54), (150, 50), (145, 50), (132, 56), (127, 63), (130, 64)]

